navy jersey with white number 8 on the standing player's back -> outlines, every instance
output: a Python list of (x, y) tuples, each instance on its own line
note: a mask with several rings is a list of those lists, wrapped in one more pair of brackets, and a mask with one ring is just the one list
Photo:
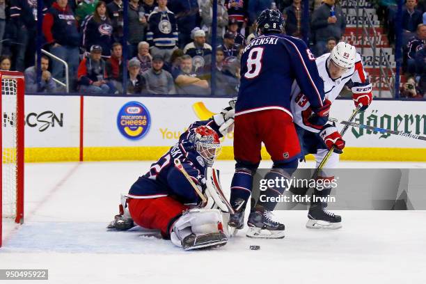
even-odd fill
[(294, 80), (311, 106), (322, 107), (324, 83), (315, 57), (302, 40), (279, 33), (253, 39), (242, 54), (235, 115), (281, 109), (292, 116), (290, 95)]

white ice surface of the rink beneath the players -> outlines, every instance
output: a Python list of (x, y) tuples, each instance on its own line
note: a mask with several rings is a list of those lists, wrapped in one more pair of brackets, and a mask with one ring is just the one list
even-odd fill
[[(277, 212), (285, 239), (248, 239), (239, 232), (223, 248), (209, 251), (185, 252), (141, 230), (107, 232), (120, 192), (149, 165), (27, 164), (26, 223), (8, 224), (3, 232), (0, 269), (49, 269), (45, 282), (74, 284), (426, 283), (426, 211), (342, 211), (343, 228), (332, 231), (306, 229), (304, 211)], [(223, 188), (229, 188), (233, 163), (216, 166)], [(341, 167), (426, 164), (345, 162)], [(250, 245), (260, 251), (249, 250)]]

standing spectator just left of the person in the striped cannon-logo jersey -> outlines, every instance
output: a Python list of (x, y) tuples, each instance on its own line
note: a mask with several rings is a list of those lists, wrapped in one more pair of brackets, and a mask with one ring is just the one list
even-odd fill
[(129, 58), (136, 56), (138, 52), (139, 42), (145, 40), (145, 28), (148, 26), (148, 22), (145, 17), (145, 10), (143, 6), (139, 4), (139, 0), (129, 1)]

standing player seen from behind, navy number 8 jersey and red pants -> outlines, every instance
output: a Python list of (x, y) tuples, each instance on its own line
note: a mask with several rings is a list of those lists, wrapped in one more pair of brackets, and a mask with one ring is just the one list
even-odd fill
[[(315, 57), (306, 44), (283, 34), (283, 15), (264, 10), (257, 20), (258, 38), (244, 48), (241, 83), (235, 107), (234, 156), (229, 226), (244, 226), (244, 210), (251, 195), (253, 175), (260, 163), (262, 142), (274, 165), (265, 178), (290, 178), (297, 168), (299, 141), (290, 111), (290, 91), (296, 80), (317, 116), (327, 116), (324, 85)], [(268, 188), (267, 197), (283, 194), (284, 188)], [(269, 199), (270, 200), (270, 199)], [(271, 219), (276, 203), (262, 202), (248, 216), (248, 237), (284, 237), (284, 225)]]

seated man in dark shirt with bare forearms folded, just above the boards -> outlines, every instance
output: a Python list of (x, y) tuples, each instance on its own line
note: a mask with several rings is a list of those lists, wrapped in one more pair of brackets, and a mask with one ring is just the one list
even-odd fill
[(180, 61), (180, 67), (173, 72), (176, 89), (182, 95), (208, 95), (210, 93), (209, 83), (197, 78), (192, 70), (192, 58), (185, 54)]

